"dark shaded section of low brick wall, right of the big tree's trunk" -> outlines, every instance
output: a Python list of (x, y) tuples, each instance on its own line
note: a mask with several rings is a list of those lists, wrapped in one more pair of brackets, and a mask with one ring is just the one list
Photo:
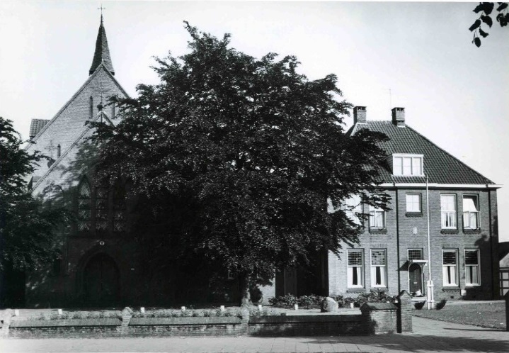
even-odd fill
[(365, 335), (362, 315), (288, 315), (251, 318), (248, 334), (253, 336)]

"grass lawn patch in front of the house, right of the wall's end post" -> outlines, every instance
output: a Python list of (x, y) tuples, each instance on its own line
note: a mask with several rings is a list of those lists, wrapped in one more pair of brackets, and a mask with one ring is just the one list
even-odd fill
[(454, 304), (441, 310), (413, 310), (413, 315), (449, 323), (505, 330), (505, 303)]

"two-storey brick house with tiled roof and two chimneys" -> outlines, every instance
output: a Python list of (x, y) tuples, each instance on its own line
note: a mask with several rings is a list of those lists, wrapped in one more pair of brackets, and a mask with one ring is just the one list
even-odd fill
[[(365, 114), (365, 107), (362, 113)], [(399, 108), (402, 109), (402, 108)], [(399, 111), (401, 113), (401, 111)], [(423, 155), (424, 172), (430, 172), (428, 187), (429, 209), (425, 179), (417, 177), (394, 177), (392, 170), (382, 171), (384, 183), (380, 193), (388, 194), (391, 201), (389, 211), (385, 212), (385, 227), (382, 230), (370, 230), (369, 220), (363, 223), (364, 231), (359, 237), (357, 250), (362, 250), (362, 286), (348, 286), (348, 245), (343, 245), (341, 258), (329, 253), (328, 285), (331, 295), (357, 296), (358, 292), (387, 291), (396, 295), (402, 290), (412, 292), (409, 283), (410, 266), (408, 250), (422, 250), (422, 261), (412, 265), (421, 267), (421, 291), (427, 290), (429, 266), (434, 284), (435, 301), (446, 299), (493, 299), (498, 298), (498, 221), (496, 189), (498, 186), (480, 174), (469, 169), (447, 152), (440, 150), (432, 142), (418, 135), (404, 125), (404, 116), (396, 122), (398, 128), (390, 127), (391, 123), (362, 123), (362, 128), (372, 128), (387, 133), (391, 142), (387, 143), (389, 157), (393, 153)], [(355, 133), (356, 125), (353, 132)], [(398, 130), (400, 129), (400, 130)], [(408, 129), (408, 130), (405, 130)], [(399, 141), (401, 134), (402, 142)], [(415, 143), (414, 143), (415, 142)], [(390, 145), (389, 145), (390, 143)], [(410, 146), (410, 147), (408, 147)], [(416, 147), (417, 146), (417, 147)], [(419, 150), (421, 146), (421, 150)], [(450, 177), (450, 182), (447, 178)], [(457, 184), (463, 177), (463, 184)], [(397, 182), (397, 179), (403, 179)], [(483, 184), (479, 181), (484, 181)], [(396, 182), (395, 182), (396, 181)], [(441, 181), (441, 182), (437, 182)], [(418, 194), (421, 199), (419, 212), (408, 212), (406, 194)], [(441, 195), (455, 197), (455, 228), (442, 229)], [(464, 196), (474, 196), (479, 211), (478, 225), (474, 229), (464, 225)], [(362, 204), (362, 212), (369, 214), (370, 209)], [(466, 206), (467, 207), (467, 206)], [(428, 254), (428, 212), (430, 233), (430, 257)], [(371, 270), (372, 250), (384, 250), (386, 254), (385, 284), (373, 286)], [(442, 256), (444, 250), (455, 250), (457, 254), (454, 271), (454, 285), (445, 284)], [(479, 251), (479, 285), (467, 284), (465, 250)], [(471, 252), (472, 254), (472, 252)], [(414, 288), (415, 289), (415, 288)], [(415, 292), (415, 291), (414, 291)]]

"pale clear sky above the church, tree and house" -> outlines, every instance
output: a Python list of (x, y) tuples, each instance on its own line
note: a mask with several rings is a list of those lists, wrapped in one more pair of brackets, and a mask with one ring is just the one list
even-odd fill
[[(28, 138), (88, 78), (100, 1), (0, 1), (0, 116)], [(182, 55), (183, 21), (254, 57), (295, 55), (309, 79), (336, 74), (368, 120), (406, 123), (498, 189), (501, 241), (509, 241), (509, 27), (480, 48), (468, 30), (476, 3), (103, 1), (115, 77), (130, 96), (156, 84), (154, 56)], [(353, 123), (345, 119), (346, 128)]]

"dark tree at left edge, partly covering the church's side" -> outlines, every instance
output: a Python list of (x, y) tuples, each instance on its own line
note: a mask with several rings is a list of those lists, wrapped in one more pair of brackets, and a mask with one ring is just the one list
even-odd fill
[(0, 269), (33, 269), (55, 256), (55, 227), (70, 217), (63, 208), (41, 205), (25, 178), (44, 156), (29, 154), (12, 122), (0, 117)]

